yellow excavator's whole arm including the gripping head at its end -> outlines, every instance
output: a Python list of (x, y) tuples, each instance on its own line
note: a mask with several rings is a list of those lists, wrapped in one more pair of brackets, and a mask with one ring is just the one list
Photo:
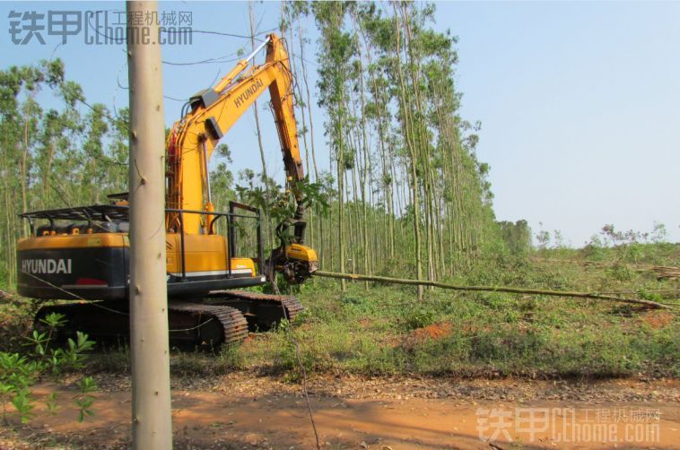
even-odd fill
[[(249, 61), (266, 47), (266, 62), (248, 69)], [(222, 136), (248, 110), (266, 90), (271, 96), (275, 125), (283, 152), (287, 182), (301, 181), (304, 170), (300, 157), (297, 126), (293, 110), (292, 73), (283, 42), (270, 34), (266, 41), (214, 87), (196, 93), (183, 111), (183, 117), (170, 131), (167, 142), (168, 175), (167, 207), (213, 212), (210, 187), (210, 158)], [(277, 229), (292, 226), (292, 242), (281, 242), (266, 264), (266, 274), (282, 272), (289, 281), (301, 282), (317, 268), (317, 255), (303, 246), (305, 222), (301, 194), (291, 183), (297, 209), (292, 218), (283, 221)], [(185, 214), (184, 230), (187, 234), (208, 234), (211, 217)], [(167, 228), (177, 231), (179, 217), (170, 212)]]

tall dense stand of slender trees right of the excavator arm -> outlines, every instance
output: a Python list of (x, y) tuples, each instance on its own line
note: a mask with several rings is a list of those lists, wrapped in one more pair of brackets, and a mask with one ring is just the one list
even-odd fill
[[(293, 55), (309, 54), (305, 16), (319, 30), (316, 99), (305, 58), (293, 61), (301, 111), (315, 100), (326, 111), (327, 169), (314, 158), (319, 136), (303, 140), (309, 173), (332, 199), (327, 217), (312, 221), (324, 267), (440, 280), (493, 251), (500, 241), (489, 167), (476, 159), (478, 125), (459, 116), (456, 38), (432, 29), (434, 7), (286, 5)], [(304, 132), (311, 115), (301, 117)]]

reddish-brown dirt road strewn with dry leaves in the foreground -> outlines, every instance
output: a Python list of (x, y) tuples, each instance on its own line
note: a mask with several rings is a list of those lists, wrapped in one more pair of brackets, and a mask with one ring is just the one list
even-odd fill
[[(75, 390), (35, 390), (37, 415), (0, 448), (126, 448), (130, 442), (127, 379), (101, 379), (96, 415), (77, 422)], [(57, 415), (39, 400), (59, 392)], [(363, 379), (326, 377), (309, 386), (325, 448), (676, 448), (680, 383), (615, 380), (591, 383), (520, 380)], [(236, 374), (174, 382), (176, 448), (313, 448), (300, 386)]]

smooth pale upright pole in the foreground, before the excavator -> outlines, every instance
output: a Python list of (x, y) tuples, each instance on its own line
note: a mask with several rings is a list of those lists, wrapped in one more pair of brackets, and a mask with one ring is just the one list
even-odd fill
[[(157, 2), (126, 3), (157, 17)], [(151, 21), (154, 22), (154, 21)], [(130, 85), (130, 352), (136, 449), (172, 448), (165, 267), (165, 120), (158, 24), (128, 25)]]

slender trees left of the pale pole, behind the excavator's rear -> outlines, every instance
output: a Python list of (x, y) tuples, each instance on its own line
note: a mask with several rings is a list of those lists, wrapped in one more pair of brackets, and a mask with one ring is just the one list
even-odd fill
[[(0, 277), (16, 280), (26, 211), (106, 202), (127, 189), (127, 110), (86, 103), (60, 60), (0, 71)], [(55, 108), (40, 100), (56, 96)], [(54, 103), (54, 102), (50, 102)]]

